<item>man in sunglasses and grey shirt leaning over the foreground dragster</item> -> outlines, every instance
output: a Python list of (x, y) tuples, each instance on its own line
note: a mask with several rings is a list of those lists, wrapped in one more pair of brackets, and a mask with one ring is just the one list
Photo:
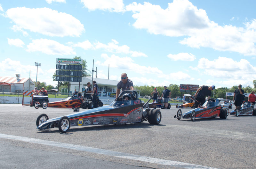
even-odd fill
[(121, 89), (122, 89), (122, 91), (134, 90), (133, 82), (131, 79), (128, 79), (126, 73), (122, 73), (121, 80), (117, 83), (116, 99), (118, 98)]

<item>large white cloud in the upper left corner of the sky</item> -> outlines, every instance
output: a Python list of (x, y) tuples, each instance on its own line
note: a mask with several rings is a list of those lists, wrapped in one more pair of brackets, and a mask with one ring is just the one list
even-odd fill
[(6, 11), (7, 17), (16, 24), (16, 29), (27, 29), (31, 32), (48, 36), (76, 36), (85, 30), (84, 25), (73, 16), (49, 8), (11, 8)]

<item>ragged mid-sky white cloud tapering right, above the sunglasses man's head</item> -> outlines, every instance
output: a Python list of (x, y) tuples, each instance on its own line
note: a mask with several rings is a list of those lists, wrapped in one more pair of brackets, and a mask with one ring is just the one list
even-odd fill
[(94, 43), (94, 46), (96, 49), (104, 49), (105, 51), (111, 52), (111, 53), (122, 53), (122, 54), (131, 54), (132, 57), (148, 57), (146, 54), (142, 52), (132, 51), (130, 50), (130, 47), (127, 45), (118, 46), (119, 42), (112, 39), (112, 42), (109, 42), (108, 44), (103, 44), (100, 42)]

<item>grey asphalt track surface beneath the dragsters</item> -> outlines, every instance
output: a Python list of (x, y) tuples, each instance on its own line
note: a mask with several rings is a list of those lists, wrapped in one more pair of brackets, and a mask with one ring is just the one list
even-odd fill
[[(36, 118), (73, 113), (0, 105), (0, 168), (256, 168), (256, 116), (37, 130)], [(81, 109), (83, 111), (84, 109)], [(85, 109), (88, 110), (88, 109)], [(190, 108), (181, 109), (182, 113)]]

